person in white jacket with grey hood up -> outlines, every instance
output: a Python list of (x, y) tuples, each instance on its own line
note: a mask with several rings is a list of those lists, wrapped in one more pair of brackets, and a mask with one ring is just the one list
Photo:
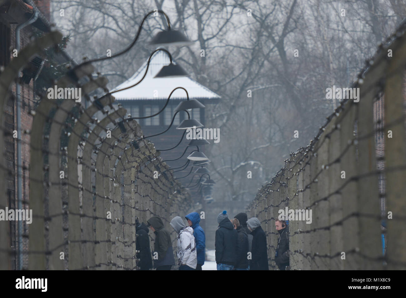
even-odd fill
[(192, 227), (186, 227), (180, 216), (174, 217), (170, 224), (178, 234), (177, 257), (179, 270), (195, 270), (197, 266), (197, 252)]

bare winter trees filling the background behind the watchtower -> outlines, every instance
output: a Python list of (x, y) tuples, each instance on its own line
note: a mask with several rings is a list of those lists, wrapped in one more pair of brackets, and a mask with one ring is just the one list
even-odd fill
[[(153, 9), (196, 41), (170, 49), (175, 60), (222, 96), (206, 111), (207, 125), (221, 133), (209, 155), (216, 199), (231, 200), (251, 200), (290, 152), (309, 143), (339, 104), (326, 100), (326, 88), (348, 86), (406, 16), (405, 0), (53, 1), (77, 60), (124, 48)], [(102, 62), (111, 86), (138, 69), (152, 50), (147, 40), (165, 26), (162, 16), (149, 18), (134, 49)]]

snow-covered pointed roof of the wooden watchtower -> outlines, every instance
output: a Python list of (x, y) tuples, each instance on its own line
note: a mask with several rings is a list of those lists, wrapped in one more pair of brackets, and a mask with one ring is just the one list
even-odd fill
[[(112, 89), (118, 90), (131, 86), (138, 82), (144, 75), (147, 67), (147, 61), (143, 66), (134, 73), (134, 75), (123, 82), (119, 86)], [(173, 61), (175, 64), (176, 62)], [(148, 73), (140, 84), (132, 88), (113, 93), (116, 100), (134, 100), (134, 99), (168, 99), (169, 94), (176, 87), (183, 87), (188, 90), (190, 99), (219, 99), (220, 96), (205, 86), (199, 84), (190, 77), (163, 77), (155, 78), (154, 76), (162, 69), (163, 66), (169, 64), (169, 57), (164, 51), (156, 52), (149, 63)], [(186, 99), (186, 92), (182, 89), (177, 89), (173, 92), (171, 99)]]

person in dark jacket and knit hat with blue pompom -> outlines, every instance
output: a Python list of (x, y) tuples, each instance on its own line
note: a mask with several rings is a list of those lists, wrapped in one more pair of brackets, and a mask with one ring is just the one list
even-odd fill
[(228, 219), (227, 211), (224, 210), (217, 217), (218, 229), (216, 230), (217, 270), (232, 270), (237, 259), (238, 233)]

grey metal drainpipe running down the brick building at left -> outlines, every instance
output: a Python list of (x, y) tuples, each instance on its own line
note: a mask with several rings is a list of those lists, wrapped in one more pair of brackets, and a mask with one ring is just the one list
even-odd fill
[[(23, 24), (19, 24), (15, 29), (15, 48), (17, 49), (17, 55), (20, 52), (20, 30), (25, 28), (26, 26), (34, 23), (38, 18), (38, 10), (33, 7), (34, 14), (32, 17)], [(18, 77), (20, 77), (20, 72), (18, 73)], [(21, 164), (21, 85), (19, 80), (15, 83), (15, 93), (16, 93), (16, 101), (17, 101), (17, 204), (18, 209), (22, 210), (22, 164)], [(22, 222), (17, 221), (18, 224), (18, 270), (22, 270), (22, 234), (23, 234), (23, 227)]]

